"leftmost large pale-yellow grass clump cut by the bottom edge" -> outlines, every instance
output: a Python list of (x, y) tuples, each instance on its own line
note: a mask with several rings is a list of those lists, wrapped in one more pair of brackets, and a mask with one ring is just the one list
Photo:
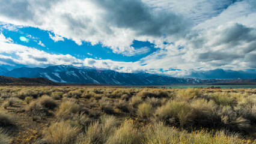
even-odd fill
[(78, 127), (72, 127), (68, 122), (56, 122), (43, 131), (44, 139), (49, 144), (75, 143), (79, 133)]

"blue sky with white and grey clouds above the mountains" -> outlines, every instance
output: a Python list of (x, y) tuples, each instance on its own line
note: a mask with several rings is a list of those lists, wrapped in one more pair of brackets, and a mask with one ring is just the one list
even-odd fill
[(255, 0), (1, 0), (0, 65), (256, 78)]

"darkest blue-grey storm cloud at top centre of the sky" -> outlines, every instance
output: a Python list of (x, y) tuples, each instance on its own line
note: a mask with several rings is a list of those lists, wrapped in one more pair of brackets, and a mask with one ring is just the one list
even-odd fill
[(137, 0), (96, 0), (106, 10), (105, 19), (119, 28), (130, 28), (138, 35), (184, 34), (191, 23), (183, 16), (149, 8)]

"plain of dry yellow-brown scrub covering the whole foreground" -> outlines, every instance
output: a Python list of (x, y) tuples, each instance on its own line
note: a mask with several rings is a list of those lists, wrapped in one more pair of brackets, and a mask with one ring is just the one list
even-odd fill
[(256, 89), (0, 88), (0, 143), (256, 143)]

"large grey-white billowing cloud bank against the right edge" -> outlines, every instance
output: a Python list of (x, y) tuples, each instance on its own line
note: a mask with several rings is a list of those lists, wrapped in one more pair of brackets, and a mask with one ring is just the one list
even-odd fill
[[(190, 53), (196, 62), (219, 67), (239, 60), (255, 65), (256, 29), (238, 23), (211, 29), (190, 41)], [(251, 67), (252, 68), (252, 67)]]

